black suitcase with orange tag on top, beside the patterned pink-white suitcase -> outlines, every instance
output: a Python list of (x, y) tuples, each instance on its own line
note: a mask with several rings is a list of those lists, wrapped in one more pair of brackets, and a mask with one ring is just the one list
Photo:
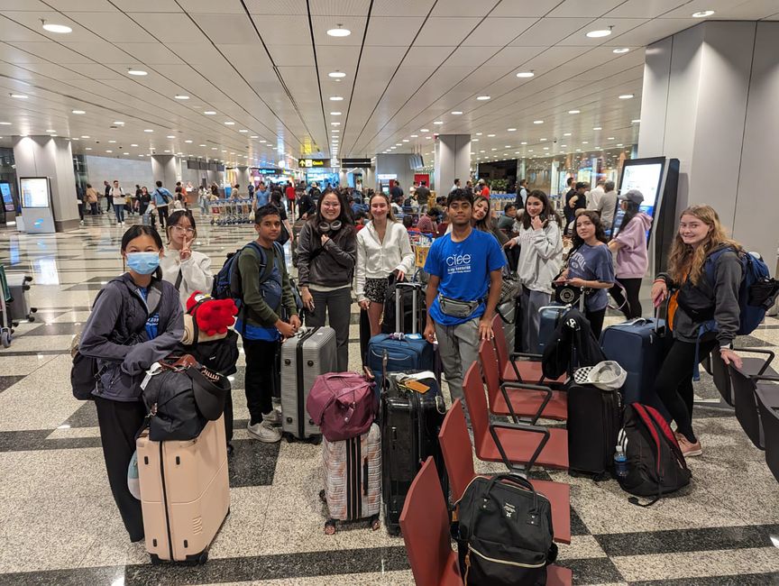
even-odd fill
[[(441, 475), (441, 487), (449, 494), (444, 457), (438, 432), (444, 423), (446, 406), (435, 377), (390, 372), (381, 393), (381, 496), (384, 523), (389, 535), (400, 533), (400, 512), (411, 482), (433, 456)], [(418, 391), (425, 392), (418, 392)]]

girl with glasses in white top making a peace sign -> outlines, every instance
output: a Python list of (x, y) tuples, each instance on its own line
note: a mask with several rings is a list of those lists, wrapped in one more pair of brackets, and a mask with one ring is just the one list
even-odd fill
[(168, 218), (168, 246), (160, 257), (162, 280), (167, 280), (179, 289), (181, 305), (195, 291), (211, 293), (214, 275), (211, 274), (211, 259), (203, 252), (192, 250), (197, 238), (195, 218), (189, 210), (178, 210)]

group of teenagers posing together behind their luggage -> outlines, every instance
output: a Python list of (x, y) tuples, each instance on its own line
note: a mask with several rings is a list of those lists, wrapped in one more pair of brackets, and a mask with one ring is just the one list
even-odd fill
[[(625, 216), (610, 242), (597, 212), (579, 213), (573, 248), (564, 263), (562, 222), (543, 191), (527, 194), (517, 224), (509, 234), (502, 233), (503, 238), (490, 218), (489, 202), (483, 206), (463, 189), (448, 195), (445, 206), (451, 229), (435, 239), (424, 268), (428, 282), (423, 335), (438, 344), (453, 400), (463, 398), (463, 373), (478, 361), (479, 343), (493, 338), (492, 317), (509, 249), (519, 250), (516, 266), (509, 269), (517, 271), (522, 283), (521, 350), (536, 349), (537, 308), (549, 304), (555, 281), (590, 291), (584, 313), (596, 335), (608, 304), (607, 290), (615, 283), (623, 283), (628, 291), (626, 315), (641, 314), (637, 292), (626, 283), (628, 279), (640, 283), (646, 272), (647, 219), (638, 210), (641, 199), (635, 191), (620, 197)], [(347, 371), (349, 365), (353, 283), (357, 301), (369, 316), (371, 334), (378, 334), (389, 279), (407, 278), (414, 270), (408, 232), (395, 219), (389, 198), (374, 193), (367, 203), (370, 221), (357, 232), (345, 194), (322, 194), (293, 242), (298, 247), (298, 287), (306, 325), (335, 329), (338, 371)], [(279, 344), (302, 324), (283, 248), (276, 243), (282, 230), (279, 207), (258, 207), (253, 228), (255, 238), (238, 260), (243, 299), (235, 331), (243, 338), (246, 360), (248, 432), (272, 443), (280, 440), (281, 417), (272, 402), (275, 356)], [(148, 225), (133, 225), (124, 233), (124, 274), (109, 281), (96, 298), (79, 347), (100, 367), (94, 395), (106, 471), (133, 541), (143, 537), (141, 503), (129, 493), (126, 473), (135, 435), (146, 417), (140, 383), (151, 364), (169, 355), (181, 341), (186, 299), (194, 291), (210, 291), (214, 280), (210, 259), (193, 250), (197, 228), (190, 211), (172, 213), (165, 235), (163, 243), (160, 233)], [(716, 279), (709, 282), (704, 263), (711, 252), (723, 247), (730, 250), (718, 255)], [(674, 332), (655, 391), (673, 417), (688, 456), (701, 453), (692, 429), (696, 343), (701, 357), (719, 347), (726, 363), (740, 364), (732, 351), (738, 330), (740, 251), (710, 206), (689, 207), (681, 215), (669, 268), (653, 284), (655, 306), (673, 297), (669, 321)], [(612, 252), (616, 252), (616, 271)], [(699, 341), (696, 316), (706, 312), (713, 313), (719, 327)]]

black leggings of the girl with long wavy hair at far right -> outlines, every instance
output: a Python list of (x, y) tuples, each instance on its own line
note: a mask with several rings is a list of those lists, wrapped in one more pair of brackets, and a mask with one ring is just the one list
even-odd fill
[[(703, 360), (717, 346), (716, 340), (701, 342), (698, 359)], [(676, 422), (676, 431), (693, 444), (697, 441), (692, 431), (692, 371), (695, 362), (695, 343), (674, 340), (665, 355), (663, 366), (655, 379), (655, 393)]]

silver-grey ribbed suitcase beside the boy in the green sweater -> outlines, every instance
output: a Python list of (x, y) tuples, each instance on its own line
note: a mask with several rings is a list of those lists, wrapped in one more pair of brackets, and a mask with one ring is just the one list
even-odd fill
[(281, 431), (293, 438), (319, 439), (321, 431), (306, 412), (308, 392), (314, 380), (337, 369), (335, 330), (312, 327), (281, 344)]

